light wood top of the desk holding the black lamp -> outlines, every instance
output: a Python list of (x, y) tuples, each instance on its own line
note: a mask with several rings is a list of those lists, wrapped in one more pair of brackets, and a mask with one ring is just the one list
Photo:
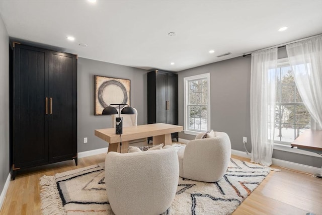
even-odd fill
[[(180, 132), (182, 130), (183, 126), (180, 125), (154, 123), (123, 127), (123, 133), (121, 135), (122, 141), (128, 141), (149, 136), (157, 136), (168, 133)], [(115, 134), (115, 128), (96, 129), (95, 135), (111, 143), (120, 141), (120, 134)]]

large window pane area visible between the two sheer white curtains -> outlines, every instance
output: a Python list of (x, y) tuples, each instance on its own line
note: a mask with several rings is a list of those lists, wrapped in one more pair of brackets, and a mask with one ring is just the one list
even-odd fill
[(311, 116), (297, 91), (287, 58), (281, 60), (276, 70), (274, 142), (288, 144), (303, 129), (310, 129)]

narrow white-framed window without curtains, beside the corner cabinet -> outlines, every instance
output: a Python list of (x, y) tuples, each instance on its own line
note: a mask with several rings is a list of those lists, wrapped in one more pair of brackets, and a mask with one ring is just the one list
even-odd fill
[(185, 133), (210, 129), (210, 74), (184, 78)]

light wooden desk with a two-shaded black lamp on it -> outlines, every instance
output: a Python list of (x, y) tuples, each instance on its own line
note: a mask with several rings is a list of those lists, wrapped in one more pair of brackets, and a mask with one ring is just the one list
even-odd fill
[[(183, 126), (165, 123), (155, 123), (147, 125), (137, 125), (123, 127), (122, 153), (127, 153), (129, 140), (140, 139), (152, 136), (153, 145), (165, 144), (172, 145), (171, 133), (180, 132)], [(115, 134), (115, 128), (96, 129), (95, 136), (109, 142), (108, 152), (120, 152), (120, 134)]]

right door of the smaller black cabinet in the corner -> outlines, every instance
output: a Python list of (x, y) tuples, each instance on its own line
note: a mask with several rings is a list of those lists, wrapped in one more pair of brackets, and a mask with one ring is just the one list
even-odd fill
[(178, 76), (168, 75), (167, 101), (169, 102), (167, 111), (167, 123), (178, 124)]

